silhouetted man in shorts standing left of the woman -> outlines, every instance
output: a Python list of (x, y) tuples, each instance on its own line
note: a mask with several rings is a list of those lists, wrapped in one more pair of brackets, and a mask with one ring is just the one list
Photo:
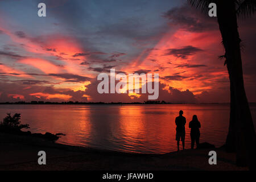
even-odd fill
[(177, 140), (177, 148), (178, 151), (180, 150), (180, 140), (182, 141), (182, 147), (183, 150), (185, 148), (185, 123), (186, 118), (182, 115), (183, 111), (180, 110), (179, 116), (176, 117), (175, 123), (176, 123), (176, 140)]

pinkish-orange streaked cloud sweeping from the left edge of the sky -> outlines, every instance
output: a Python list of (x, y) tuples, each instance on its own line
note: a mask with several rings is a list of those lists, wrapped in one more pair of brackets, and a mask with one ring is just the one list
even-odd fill
[[(7, 28), (4, 28), (3, 25), (0, 27), (0, 30), (3, 31), (4, 34), (8, 35), (14, 43), (23, 45), (22, 47), (27, 52), (37, 53), (40, 54), (40, 56), (56, 56), (59, 61), (63, 61), (63, 66), (68, 73), (82, 74), (82, 69), (84, 68), (81, 68), (80, 63), (86, 59), (86, 56), (82, 55), (79, 57), (74, 57), (74, 55), (77, 53), (84, 52), (75, 38), (62, 35), (46, 35), (42, 36), (42, 38), (33, 39), (29, 38), (29, 36), (26, 38), (20, 38)], [(42, 39), (42, 41), (40, 39)], [(34, 65), (36, 68), (39, 67), (38, 65), (35, 65), (35, 63), (30, 64)], [(44, 69), (44, 72), (48, 73), (46, 71), (47, 69)]]

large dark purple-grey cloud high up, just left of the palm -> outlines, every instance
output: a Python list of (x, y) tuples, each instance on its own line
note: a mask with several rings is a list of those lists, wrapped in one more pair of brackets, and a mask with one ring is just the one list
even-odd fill
[(201, 14), (189, 5), (174, 7), (164, 13), (165, 18), (170, 20), (171, 26), (179, 26), (185, 31), (203, 32), (218, 30), (216, 18)]

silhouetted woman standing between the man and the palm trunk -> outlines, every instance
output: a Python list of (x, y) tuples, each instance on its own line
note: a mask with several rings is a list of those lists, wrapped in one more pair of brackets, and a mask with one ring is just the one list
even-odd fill
[(201, 124), (197, 119), (196, 115), (193, 115), (192, 121), (189, 122), (190, 137), (191, 137), (191, 148), (194, 148), (195, 140), (196, 140), (196, 148), (199, 148), (199, 138), (200, 138), (200, 127)]

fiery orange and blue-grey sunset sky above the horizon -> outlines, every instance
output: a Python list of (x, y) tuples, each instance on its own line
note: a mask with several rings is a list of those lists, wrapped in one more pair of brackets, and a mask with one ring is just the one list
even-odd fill
[[(46, 17), (37, 14), (40, 2)], [(97, 76), (111, 68), (159, 73), (159, 100), (229, 102), (217, 20), (186, 2), (0, 0), (0, 102), (147, 100), (99, 94)], [(256, 102), (255, 20), (238, 20), (250, 102)]]

